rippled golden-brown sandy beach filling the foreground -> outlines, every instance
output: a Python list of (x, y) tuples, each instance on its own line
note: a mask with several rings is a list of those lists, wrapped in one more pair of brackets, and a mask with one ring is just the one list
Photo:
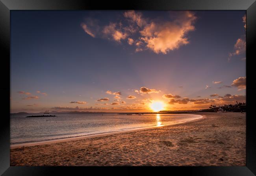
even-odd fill
[(11, 166), (245, 166), (246, 113), (139, 131), (18, 147)]

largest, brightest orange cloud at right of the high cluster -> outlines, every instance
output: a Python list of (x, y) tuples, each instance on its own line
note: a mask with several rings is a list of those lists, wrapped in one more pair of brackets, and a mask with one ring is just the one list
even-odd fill
[(178, 19), (173, 22), (151, 22), (140, 31), (141, 40), (154, 53), (167, 54), (171, 50), (189, 44), (186, 34), (195, 30), (195, 26), (192, 25), (195, 19), (193, 13), (186, 11), (180, 13)]

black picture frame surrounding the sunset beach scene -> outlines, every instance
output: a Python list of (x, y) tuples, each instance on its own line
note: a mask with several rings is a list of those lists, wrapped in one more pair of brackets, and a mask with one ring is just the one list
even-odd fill
[[(247, 118), (246, 118), (246, 166), (244, 167), (118, 167), (122, 172), (113, 172), (117, 167), (10, 167), (10, 11), (11, 10), (246, 10), (247, 13)], [(54, 175), (80, 172), (88, 174), (88, 170), (111, 172), (111, 175), (134, 174), (138, 170), (151, 174), (159, 171), (179, 175), (197, 176), (253, 176), (256, 174), (256, 128), (254, 101), (256, 86), (254, 83), (256, 42), (256, 2), (254, 0), (130, 0), (130, 1), (97, 1), (97, 0), (0, 0), (0, 40), (1, 40), (1, 86), (2, 117), (0, 121), (0, 174), (2, 175)]]

